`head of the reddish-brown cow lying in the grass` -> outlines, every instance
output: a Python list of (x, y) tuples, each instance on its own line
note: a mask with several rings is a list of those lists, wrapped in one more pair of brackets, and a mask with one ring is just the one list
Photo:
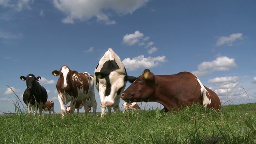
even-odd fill
[(145, 69), (122, 94), (121, 98), (125, 102), (148, 102), (154, 96), (154, 74), (149, 69)]

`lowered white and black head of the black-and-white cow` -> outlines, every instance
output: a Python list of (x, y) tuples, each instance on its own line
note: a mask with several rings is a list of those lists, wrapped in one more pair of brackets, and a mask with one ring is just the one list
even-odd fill
[(126, 74), (124, 74), (121, 69), (95, 72), (94, 74), (97, 79), (104, 78), (106, 80), (106, 106), (113, 106), (116, 96), (120, 96), (120, 93), (123, 92), (126, 86), (126, 81), (132, 83), (134, 82), (134, 80), (136, 80), (134, 76), (127, 76)]

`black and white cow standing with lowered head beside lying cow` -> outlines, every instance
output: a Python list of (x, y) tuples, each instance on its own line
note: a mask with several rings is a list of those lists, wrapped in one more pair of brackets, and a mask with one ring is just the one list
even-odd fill
[(109, 116), (111, 108), (114, 109), (114, 113), (120, 111), (120, 95), (124, 91), (126, 81), (133, 82), (135, 79), (127, 76), (121, 59), (109, 48), (94, 70), (94, 85), (100, 95), (101, 117), (105, 114), (106, 106)]

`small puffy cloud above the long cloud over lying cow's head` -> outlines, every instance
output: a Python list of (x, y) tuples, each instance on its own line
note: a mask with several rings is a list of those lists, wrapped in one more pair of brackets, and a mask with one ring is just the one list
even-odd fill
[[(144, 34), (136, 30), (134, 34), (126, 34), (123, 38), (123, 43), (129, 46), (132, 46), (134, 44), (140, 43), (140, 41), (143, 40), (143, 37), (144, 37)], [(142, 44), (144, 45), (143, 42), (141, 42), (139, 45), (142, 45)]]

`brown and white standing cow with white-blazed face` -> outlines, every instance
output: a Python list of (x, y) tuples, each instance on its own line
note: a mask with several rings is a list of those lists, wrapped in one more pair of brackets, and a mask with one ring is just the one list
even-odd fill
[(84, 106), (85, 116), (88, 113), (87, 99), (92, 101), (93, 114), (96, 116), (97, 102), (94, 94), (94, 77), (88, 72), (77, 72), (70, 70), (68, 66), (64, 65), (60, 70), (52, 71), (54, 76), (59, 76), (56, 84), (58, 91), (58, 100), (60, 102), (60, 112), (62, 118), (65, 113), (65, 105), (71, 101), (70, 114), (74, 114), (76, 102), (82, 100)]

